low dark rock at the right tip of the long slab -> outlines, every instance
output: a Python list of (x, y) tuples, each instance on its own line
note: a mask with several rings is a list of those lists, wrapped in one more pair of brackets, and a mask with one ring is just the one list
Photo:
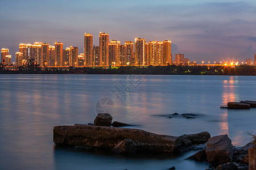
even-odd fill
[(208, 141), (210, 138), (210, 134), (207, 131), (203, 131), (201, 133), (196, 134), (184, 134), (180, 136), (181, 138), (188, 139), (193, 144), (202, 144)]

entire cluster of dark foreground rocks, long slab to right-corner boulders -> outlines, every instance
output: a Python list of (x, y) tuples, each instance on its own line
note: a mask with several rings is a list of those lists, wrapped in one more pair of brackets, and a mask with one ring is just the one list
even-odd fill
[(139, 151), (177, 153), (189, 150), (192, 145), (207, 143), (206, 148), (188, 159), (208, 162), (209, 169), (256, 169), (256, 139), (238, 149), (233, 148), (228, 135), (210, 137), (204, 131), (174, 137), (141, 129), (115, 128), (131, 125), (121, 122), (112, 124), (112, 119), (110, 114), (102, 113), (89, 125), (55, 126), (53, 142), (56, 145), (75, 146), (79, 150), (109, 148), (119, 154), (135, 154)]

